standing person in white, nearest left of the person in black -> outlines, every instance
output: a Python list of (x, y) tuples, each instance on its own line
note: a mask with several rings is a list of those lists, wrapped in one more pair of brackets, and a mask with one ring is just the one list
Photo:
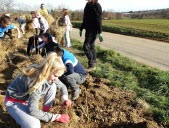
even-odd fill
[(68, 10), (63, 9), (63, 17), (64, 17), (64, 25), (65, 25), (65, 42), (66, 42), (66, 47), (71, 46), (71, 41), (70, 41), (70, 31), (72, 29), (72, 24), (68, 15)]

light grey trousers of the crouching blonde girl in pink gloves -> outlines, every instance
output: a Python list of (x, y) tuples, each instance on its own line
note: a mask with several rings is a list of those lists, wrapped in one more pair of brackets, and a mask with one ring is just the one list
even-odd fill
[[(52, 106), (56, 95), (56, 84), (51, 85), (47, 94), (44, 96), (43, 106)], [(7, 112), (16, 120), (21, 128), (40, 128), (40, 120), (29, 115), (28, 105), (18, 102), (5, 102)]]

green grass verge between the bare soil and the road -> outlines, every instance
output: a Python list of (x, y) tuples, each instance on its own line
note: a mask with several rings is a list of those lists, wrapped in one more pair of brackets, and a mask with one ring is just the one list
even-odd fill
[[(82, 43), (73, 39), (73, 48), (78, 59), (87, 66)], [(137, 97), (150, 104), (154, 119), (169, 124), (169, 72), (140, 64), (112, 50), (97, 50), (97, 69), (93, 77), (110, 80), (109, 86), (133, 90)], [(80, 56), (79, 56), (80, 55)]]

